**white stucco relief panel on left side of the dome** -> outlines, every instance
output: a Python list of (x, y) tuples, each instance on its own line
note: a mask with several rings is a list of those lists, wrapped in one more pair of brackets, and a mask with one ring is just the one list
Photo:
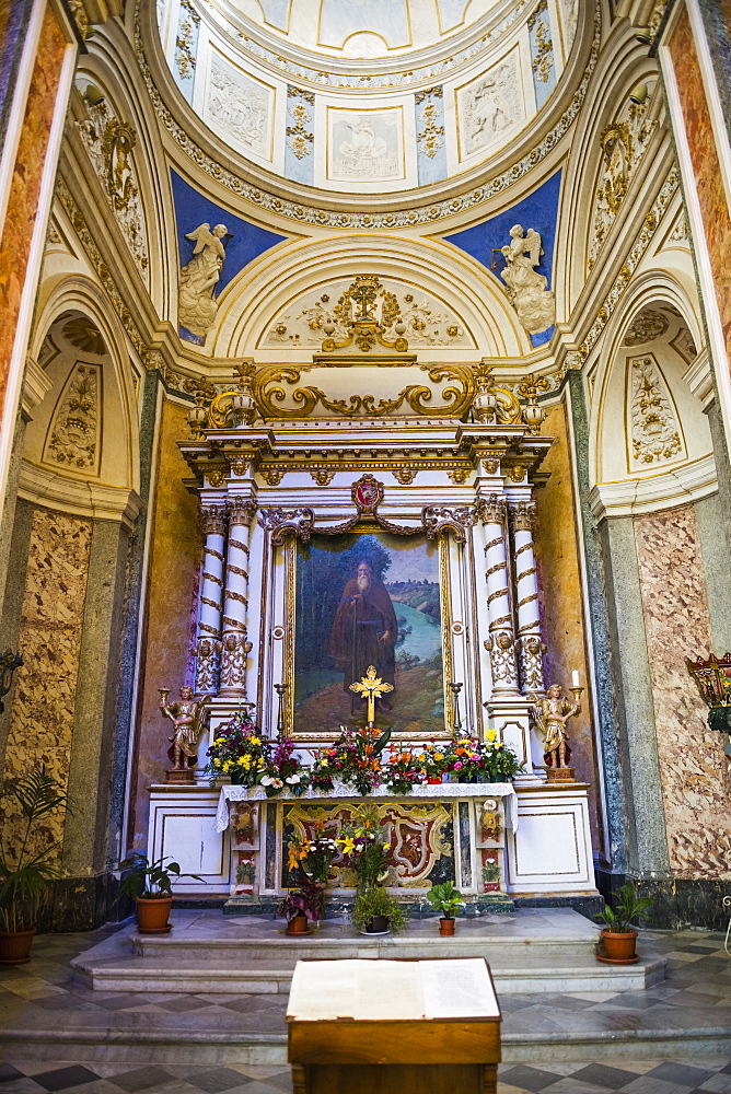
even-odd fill
[(271, 160), (274, 98), (274, 88), (252, 80), (211, 50), (205, 118), (245, 154)]

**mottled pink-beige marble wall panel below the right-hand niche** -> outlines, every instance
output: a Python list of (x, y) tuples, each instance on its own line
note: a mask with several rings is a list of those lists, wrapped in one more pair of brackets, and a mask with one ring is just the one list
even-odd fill
[(724, 738), (708, 728), (683, 660), (711, 649), (694, 507), (636, 517), (635, 542), (671, 869), (677, 877), (731, 877)]

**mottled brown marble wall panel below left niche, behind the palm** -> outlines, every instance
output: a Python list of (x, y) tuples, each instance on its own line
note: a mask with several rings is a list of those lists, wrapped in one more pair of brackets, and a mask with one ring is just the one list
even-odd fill
[[(91, 537), (89, 520), (35, 511), (4, 778), (44, 766), (68, 782)], [(60, 839), (63, 821), (49, 817), (37, 830), (44, 843)]]

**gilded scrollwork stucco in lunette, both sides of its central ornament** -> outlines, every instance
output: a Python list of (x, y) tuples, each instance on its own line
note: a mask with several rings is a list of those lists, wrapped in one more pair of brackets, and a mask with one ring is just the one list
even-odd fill
[[(338, 280), (311, 289), (288, 304), (264, 335), (262, 348), (280, 346), (317, 348), (324, 328), (333, 326), (329, 336), (336, 345), (346, 345), (351, 333), (351, 307), (346, 301), (349, 282)], [(453, 346), (474, 348), (474, 340), (464, 323), (442, 301), (390, 278), (380, 279), (378, 317), (387, 342), (398, 337), (396, 323), (404, 327), (403, 337), (409, 346)], [(385, 294), (388, 294), (387, 296)]]

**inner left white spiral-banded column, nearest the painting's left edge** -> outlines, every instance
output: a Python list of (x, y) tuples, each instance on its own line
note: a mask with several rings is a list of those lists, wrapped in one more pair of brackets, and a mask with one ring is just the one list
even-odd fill
[(248, 535), (256, 512), (251, 498), (229, 496), (229, 547), (225, 562), (223, 638), (219, 695), (246, 697), (246, 656), (252, 643), (246, 640), (248, 612)]

